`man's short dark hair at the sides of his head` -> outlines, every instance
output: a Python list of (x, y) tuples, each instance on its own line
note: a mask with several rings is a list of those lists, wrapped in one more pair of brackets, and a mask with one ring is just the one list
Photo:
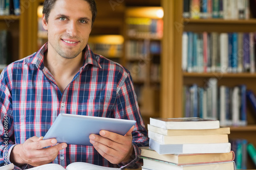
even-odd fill
[[(53, 6), (55, 5), (56, 1), (57, 0), (45, 0), (45, 2), (44, 2), (44, 8), (42, 8), (42, 13), (45, 14), (47, 22), (48, 22), (50, 12), (51, 12)], [(90, 5), (90, 10), (93, 15), (92, 16), (92, 27), (93, 27), (93, 22), (97, 15), (97, 7), (96, 7), (95, 0), (84, 0), (84, 1), (88, 2), (88, 4)]]

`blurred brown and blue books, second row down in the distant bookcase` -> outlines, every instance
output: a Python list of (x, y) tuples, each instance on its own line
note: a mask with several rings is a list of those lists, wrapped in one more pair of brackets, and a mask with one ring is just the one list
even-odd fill
[(160, 41), (127, 40), (125, 42), (125, 57), (129, 60), (148, 60), (149, 55), (161, 54)]

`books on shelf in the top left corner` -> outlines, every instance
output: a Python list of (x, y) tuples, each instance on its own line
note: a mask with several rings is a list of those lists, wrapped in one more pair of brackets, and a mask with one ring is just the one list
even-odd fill
[(19, 15), (19, 0), (0, 0), (0, 15)]

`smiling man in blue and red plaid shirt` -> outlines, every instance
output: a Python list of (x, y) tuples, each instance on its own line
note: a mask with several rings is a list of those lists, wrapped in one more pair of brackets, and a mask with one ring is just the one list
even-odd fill
[[(48, 43), (7, 66), (0, 76), (1, 165), (12, 162), (24, 169), (54, 162), (66, 167), (83, 161), (138, 166), (138, 147), (148, 144), (147, 133), (129, 71), (93, 54), (87, 45), (96, 13), (94, 0), (45, 1), (42, 25)], [(125, 136), (91, 134), (93, 147), (42, 140), (59, 113), (137, 123)]]

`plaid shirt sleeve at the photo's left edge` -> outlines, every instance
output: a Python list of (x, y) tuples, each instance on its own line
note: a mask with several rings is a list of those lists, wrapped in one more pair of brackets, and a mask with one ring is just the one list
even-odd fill
[(10, 153), (15, 144), (10, 81), (6, 75), (4, 70), (0, 76), (0, 166), (11, 163)]

